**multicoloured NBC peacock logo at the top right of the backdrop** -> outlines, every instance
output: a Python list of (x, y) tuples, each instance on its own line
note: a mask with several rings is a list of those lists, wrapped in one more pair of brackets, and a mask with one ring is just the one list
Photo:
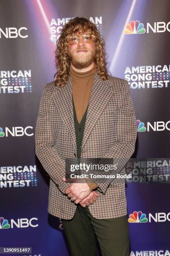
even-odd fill
[(145, 28), (143, 23), (139, 20), (131, 20), (129, 24), (126, 25), (125, 34), (143, 34), (145, 33)]

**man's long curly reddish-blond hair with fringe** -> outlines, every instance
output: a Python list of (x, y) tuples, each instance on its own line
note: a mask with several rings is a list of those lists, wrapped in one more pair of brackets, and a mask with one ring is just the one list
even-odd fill
[(102, 80), (107, 80), (108, 71), (106, 69), (106, 53), (105, 53), (105, 41), (100, 36), (94, 23), (87, 18), (76, 17), (71, 19), (68, 23), (63, 26), (60, 33), (60, 38), (56, 42), (55, 59), (57, 72), (54, 75), (55, 86), (64, 87), (67, 82), (67, 77), (70, 69), (70, 59), (67, 54), (68, 40), (72, 34), (77, 32), (84, 34), (91, 34), (94, 38), (95, 43), (95, 66), (97, 74), (100, 75)]

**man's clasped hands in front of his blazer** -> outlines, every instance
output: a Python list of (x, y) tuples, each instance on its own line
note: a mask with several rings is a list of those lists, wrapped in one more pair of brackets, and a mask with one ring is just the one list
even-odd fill
[[(65, 182), (65, 178), (63, 178)], [(100, 194), (95, 191), (91, 191), (86, 182), (84, 183), (72, 183), (70, 187), (65, 190), (67, 197), (71, 198), (75, 204), (80, 203), (82, 207), (92, 205)]]

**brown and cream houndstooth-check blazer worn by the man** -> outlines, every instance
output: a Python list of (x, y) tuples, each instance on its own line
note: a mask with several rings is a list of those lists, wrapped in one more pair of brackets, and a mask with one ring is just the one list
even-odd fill
[[(130, 87), (124, 79), (95, 73), (82, 139), (81, 158), (130, 159), (137, 136)], [(44, 85), (35, 128), (35, 154), (50, 176), (48, 212), (69, 220), (77, 205), (65, 194), (71, 184), (65, 177), (65, 158), (76, 157), (72, 107), (72, 77), (65, 87)], [(125, 163), (124, 163), (125, 164)], [(125, 182), (101, 182), (100, 196), (88, 208), (94, 218), (117, 218), (127, 214)]]

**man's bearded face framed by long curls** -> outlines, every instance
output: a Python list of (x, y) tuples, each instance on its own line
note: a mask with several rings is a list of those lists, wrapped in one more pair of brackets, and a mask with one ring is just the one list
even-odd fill
[[(84, 34), (77, 33), (77, 36)], [(74, 67), (82, 69), (90, 66), (95, 59), (95, 43), (85, 43), (80, 36), (77, 44), (68, 46), (68, 57)]]

